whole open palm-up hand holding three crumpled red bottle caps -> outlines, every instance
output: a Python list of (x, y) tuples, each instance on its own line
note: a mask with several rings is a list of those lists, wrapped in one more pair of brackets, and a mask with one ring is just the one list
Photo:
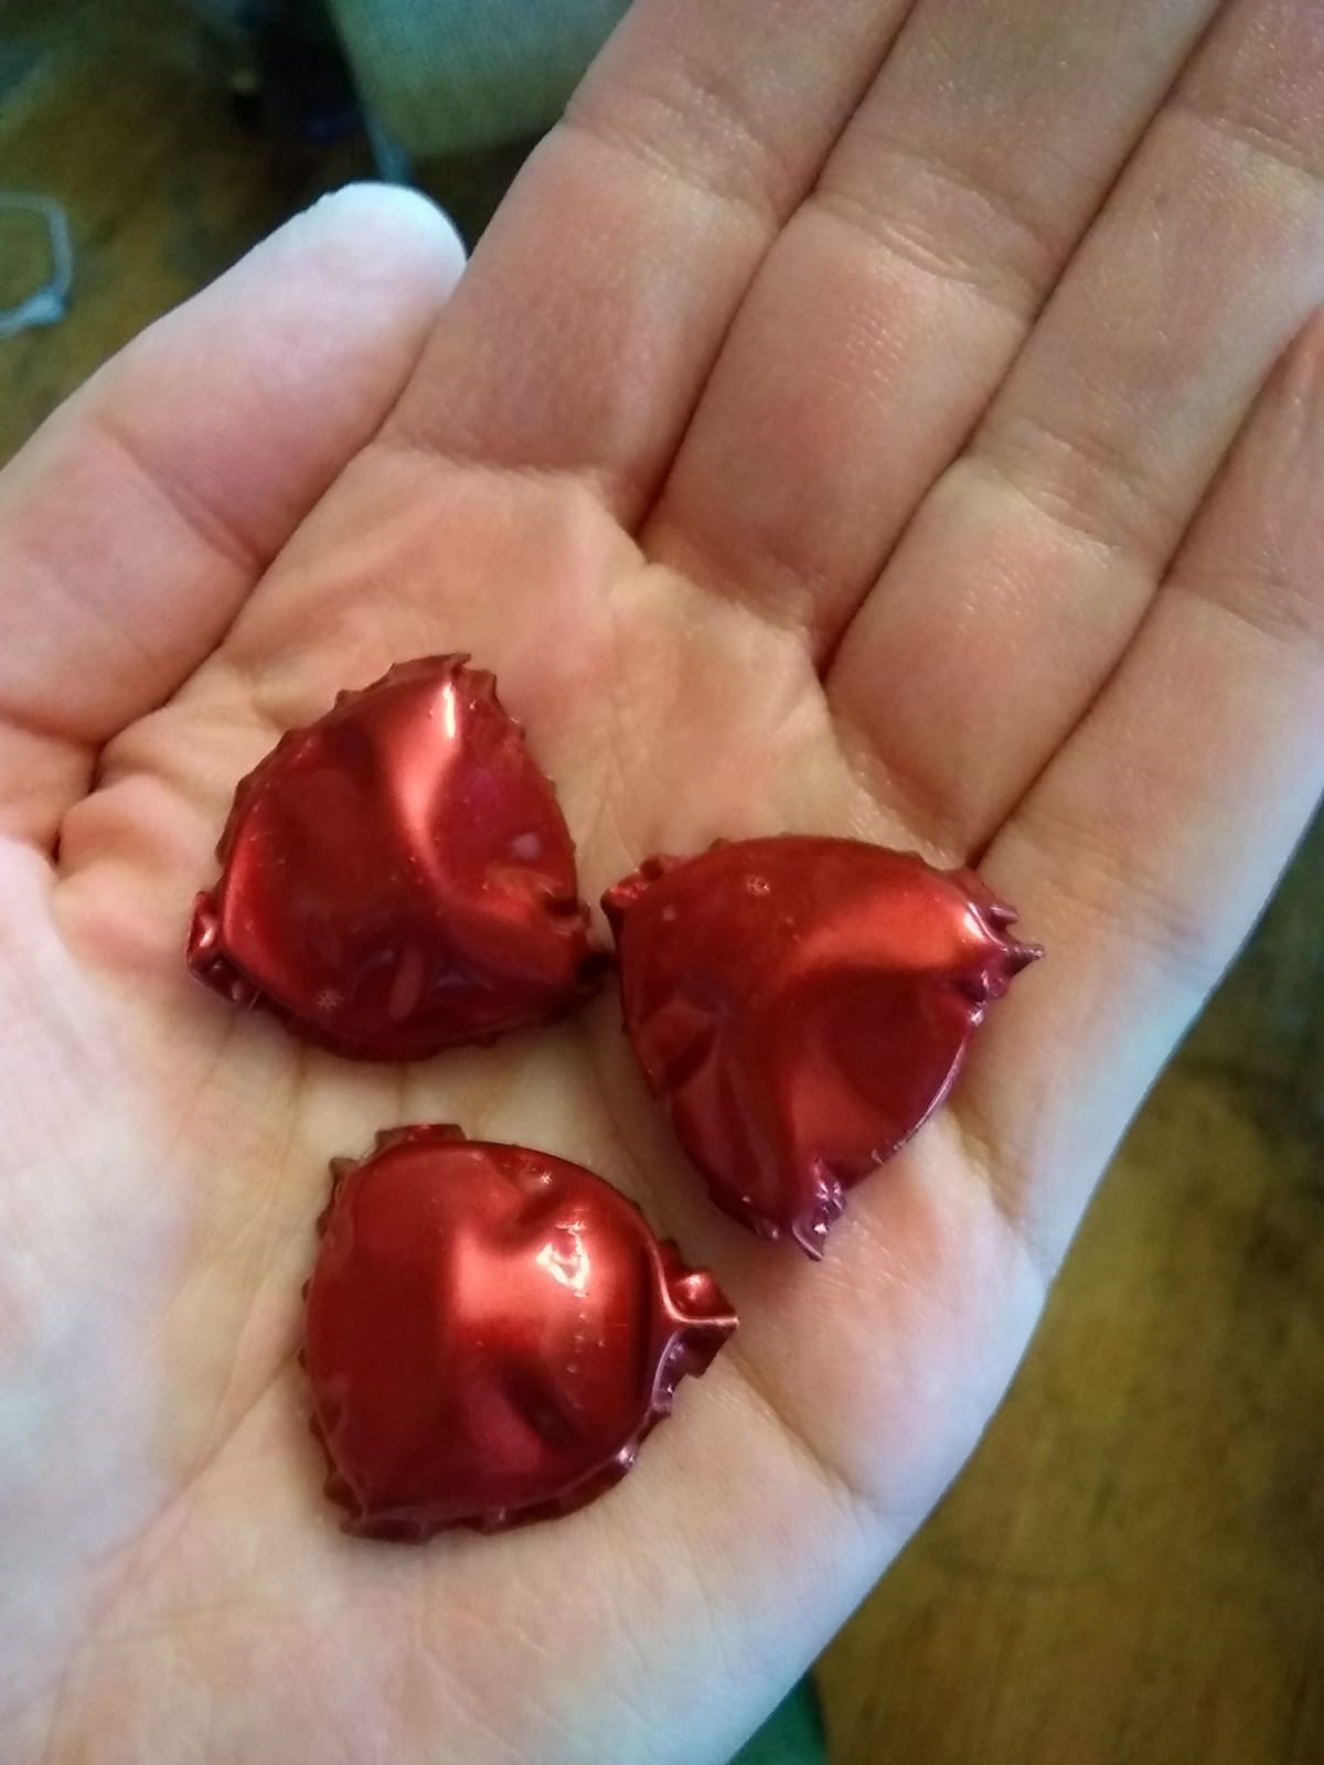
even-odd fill
[[(1322, 122), (1317, 0), (641, 0), (454, 298), (344, 194), (12, 462), (5, 1760), (718, 1761), (886, 1567), (1324, 784)], [(185, 976), (235, 780), (436, 650), (590, 897), (840, 830), (1049, 948), (823, 1266), (611, 997), (380, 1070)], [(293, 1361), (325, 1161), (410, 1119), (600, 1170), (743, 1318), (602, 1502), (420, 1551), (335, 1530)]]

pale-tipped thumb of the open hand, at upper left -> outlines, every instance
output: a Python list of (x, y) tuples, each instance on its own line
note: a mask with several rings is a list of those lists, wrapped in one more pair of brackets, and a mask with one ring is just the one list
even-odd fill
[(224, 634), (390, 409), (461, 270), (420, 198), (320, 203), (104, 367), (0, 475), (0, 831)]

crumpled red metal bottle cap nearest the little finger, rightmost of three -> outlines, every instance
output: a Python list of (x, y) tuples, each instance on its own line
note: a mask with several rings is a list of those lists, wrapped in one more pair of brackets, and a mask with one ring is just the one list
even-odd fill
[(713, 1200), (810, 1257), (1040, 955), (971, 870), (856, 840), (655, 858), (602, 905), (625, 1031)]

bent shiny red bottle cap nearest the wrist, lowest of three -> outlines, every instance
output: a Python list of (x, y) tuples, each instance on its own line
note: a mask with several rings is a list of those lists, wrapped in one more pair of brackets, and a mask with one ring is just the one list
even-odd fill
[(711, 1274), (547, 1153), (395, 1128), (332, 1172), (304, 1364), (348, 1532), (583, 1507), (736, 1327)]

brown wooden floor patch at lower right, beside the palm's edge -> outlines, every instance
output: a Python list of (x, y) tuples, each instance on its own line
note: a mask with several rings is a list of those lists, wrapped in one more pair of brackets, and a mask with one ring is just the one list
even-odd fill
[(1322, 1765), (1322, 1018), (1317, 828), (828, 1650), (840, 1765)]

